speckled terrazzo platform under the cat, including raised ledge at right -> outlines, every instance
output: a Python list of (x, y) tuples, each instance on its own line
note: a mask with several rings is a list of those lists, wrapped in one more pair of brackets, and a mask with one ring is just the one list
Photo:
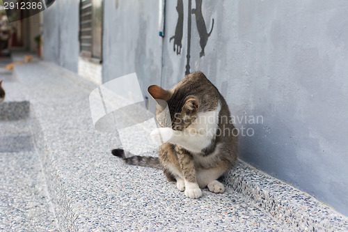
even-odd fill
[(96, 86), (47, 62), (15, 73), (35, 89), (32, 127), (60, 231), (348, 230), (347, 217), (244, 162), (224, 178), (225, 193), (187, 199), (160, 170), (110, 154), (120, 139), (93, 127), (88, 95)]

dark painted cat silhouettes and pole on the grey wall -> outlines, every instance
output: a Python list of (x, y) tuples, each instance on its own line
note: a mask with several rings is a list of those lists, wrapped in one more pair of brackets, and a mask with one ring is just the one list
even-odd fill
[[(207, 26), (205, 24), (205, 20), (202, 13), (202, 1), (196, 0), (196, 8), (192, 9), (192, 0), (188, 1), (188, 11), (187, 11), (187, 65), (185, 74), (190, 73), (190, 58), (191, 58), (191, 15), (195, 15), (196, 18), (196, 26), (198, 31), (198, 36), (200, 38), (200, 57), (205, 56), (205, 46), (207, 45), (208, 38), (212, 34), (214, 28), (214, 19), (212, 19), (212, 28), (208, 32)], [(184, 3), (182, 0), (177, 0), (177, 24), (175, 27), (175, 35), (169, 39), (169, 42), (174, 39), (173, 42), (173, 50), (176, 51), (176, 54), (181, 53), (182, 48), (182, 35), (184, 28)]]

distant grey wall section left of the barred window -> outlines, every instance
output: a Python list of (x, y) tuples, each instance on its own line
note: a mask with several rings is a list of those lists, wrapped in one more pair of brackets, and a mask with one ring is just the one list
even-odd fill
[(55, 1), (43, 14), (44, 58), (77, 72), (79, 0)]

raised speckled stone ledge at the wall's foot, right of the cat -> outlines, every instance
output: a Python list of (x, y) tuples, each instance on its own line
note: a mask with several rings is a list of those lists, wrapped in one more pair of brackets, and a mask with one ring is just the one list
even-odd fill
[(239, 161), (226, 174), (228, 187), (299, 231), (348, 231), (348, 219), (313, 196)]

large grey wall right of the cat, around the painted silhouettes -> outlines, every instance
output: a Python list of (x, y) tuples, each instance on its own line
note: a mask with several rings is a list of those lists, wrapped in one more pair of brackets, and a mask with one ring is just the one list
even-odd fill
[[(176, 55), (169, 42), (176, 2), (167, 3), (162, 78), (168, 88), (184, 74), (187, 40)], [(240, 137), (239, 157), (346, 215), (347, 14), (348, 1), (203, 1), (207, 31), (212, 18), (214, 29), (201, 58), (191, 15), (191, 71), (205, 72), (233, 115), (264, 118), (237, 123), (255, 132)]]

